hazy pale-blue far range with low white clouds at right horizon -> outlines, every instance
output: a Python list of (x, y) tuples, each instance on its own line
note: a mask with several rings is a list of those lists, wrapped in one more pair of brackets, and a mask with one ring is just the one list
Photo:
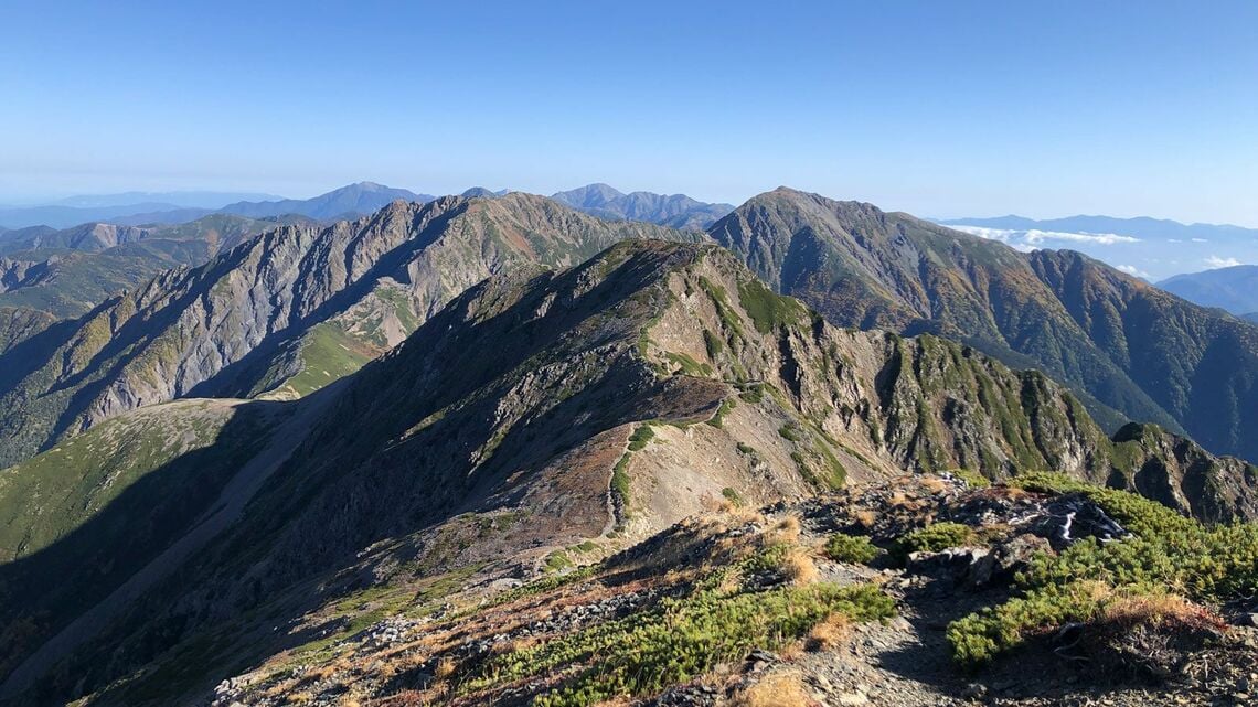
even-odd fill
[(1258, 229), (1161, 219), (1021, 216), (945, 219), (940, 224), (1000, 240), (1019, 250), (1072, 248), (1149, 281), (1176, 273), (1258, 263)]

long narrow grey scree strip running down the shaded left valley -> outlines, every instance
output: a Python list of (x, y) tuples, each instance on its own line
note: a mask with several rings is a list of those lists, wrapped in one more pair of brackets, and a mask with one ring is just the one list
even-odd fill
[(321, 390), (318, 395), (298, 403), (292, 418), (272, 431), (267, 447), (240, 467), (240, 470), (223, 488), (218, 501), (182, 537), (19, 664), (0, 684), (0, 699), (8, 699), (28, 688), (35, 678), (43, 676), (58, 660), (108, 626), (111, 620), (131, 601), (169, 576), (189, 556), (205, 547), (215, 536), (231, 526), (240, 517), (249, 499), (262, 488), (262, 484), (306, 439), (314, 421), (326, 410), (328, 403), (336, 398), (333, 387), (340, 386), (333, 384)]

